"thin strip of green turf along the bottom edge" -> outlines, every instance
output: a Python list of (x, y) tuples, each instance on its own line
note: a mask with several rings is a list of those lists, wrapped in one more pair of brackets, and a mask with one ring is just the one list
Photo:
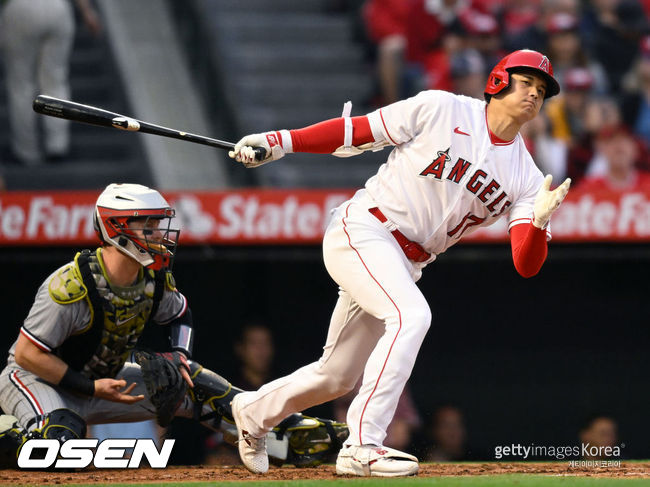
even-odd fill
[[(556, 487), (556, 486), (592, 486), (628, 487), (637, 485), (650, 486), (650, 479), (630, 478), (594, 478), (594, 477), (560, 477), (551, 475), (505, 474), (467, 477), (426, 477), (400, 479), (336, 479), (336, 480), (269, 480), (266, 482), (184, 482), (152, 484), (119, 484), (119, 487), (208, 487), (245, 485), (245, 487)], [(88, 484), (75, 487), (115, 487), (116, 484)]]

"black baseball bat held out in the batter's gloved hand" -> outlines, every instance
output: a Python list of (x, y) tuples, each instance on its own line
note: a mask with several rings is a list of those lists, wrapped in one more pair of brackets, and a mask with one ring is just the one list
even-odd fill
[[(232, 142), (212, 139), (203, 135), (190, 134), (176, 129), (161, 127), (149, 122), (143, 122), (132, 117), (120, 115), (119, 113), (109, 112), (91, 105), (83, 105), (70, 100), (61, 100), (51, 96), (38, 95), (34, 100), (34, 111), (50, 117), (64, 118), (74, 120), (75, 122), (84, 122), (100, 127), (116, 128), (127, 130), (129, 132), (143, 132), (145, 134), (160, 135), (172, 139), (185, 140), (195, 144), (209, 145), (218, 149), (230, 150), (235, 147)], [(266, 157), (264, 147), (255, 148), (255, 158), (261, 161)]]

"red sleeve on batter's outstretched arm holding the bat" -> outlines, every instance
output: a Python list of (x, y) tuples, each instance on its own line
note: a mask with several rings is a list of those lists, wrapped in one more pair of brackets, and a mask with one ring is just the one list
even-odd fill
[[(370, 130), (370, 122), (365, 115), (352, 117), (352, 127), (352, 145), (358, 146), (375, 141)], [(294, 152), (331, 154), (343, 145), (345, 119), (332, 118), (309, 127), (291, 130), (290, 133)]]

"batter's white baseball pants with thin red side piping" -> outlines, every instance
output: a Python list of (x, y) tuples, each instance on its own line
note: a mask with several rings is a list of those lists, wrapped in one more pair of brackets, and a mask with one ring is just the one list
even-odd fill
[(334, 213), (323, 256), (339, 285), (321, 358), (293, 374), (243, 393), (240, 427), (261, 437), (289, 414), (352, 390), (346, 444), (382, 445), (431, 311), (415, 282), (424, 264), (409, 261), (394, 237), (368, 208), (360, 190)]

